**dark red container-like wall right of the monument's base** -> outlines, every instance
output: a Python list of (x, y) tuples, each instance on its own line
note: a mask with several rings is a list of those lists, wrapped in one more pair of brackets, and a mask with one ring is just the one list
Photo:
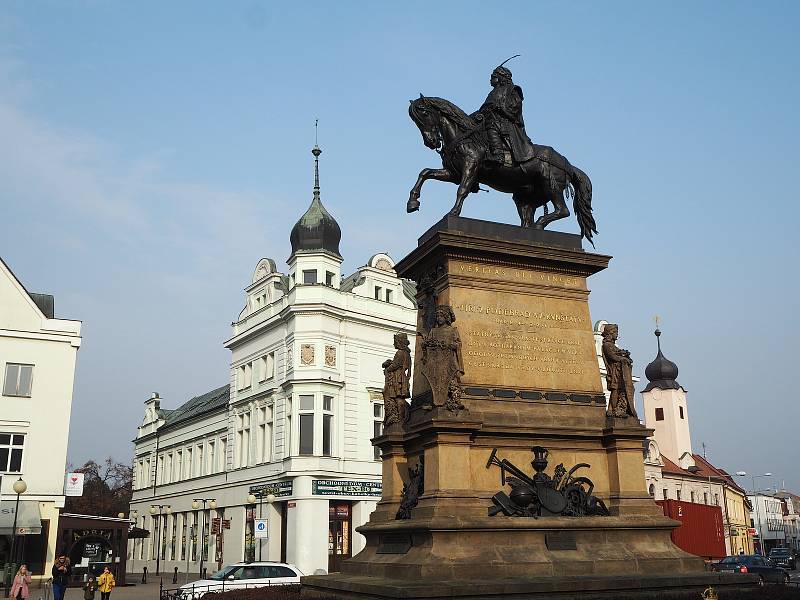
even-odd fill
[(725, 531), (719, 506), (694, 504), (682, 500), (658, 500), (664, 514), (682, 525), (672, 530), (678, 548), (702, 558), (723, 558)]

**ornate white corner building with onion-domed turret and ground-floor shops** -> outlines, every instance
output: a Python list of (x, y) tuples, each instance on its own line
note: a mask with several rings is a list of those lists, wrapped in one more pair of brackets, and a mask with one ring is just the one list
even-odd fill
[[(363, 547), (355, 528), (381, 495), (370, 442), (383, 420), (381, 364), (395, 333), (413, 339), (416, 303), (386, 254), (342, 278), (341, 232), (320, 200), (314, 155), (313, 199), (292, 229), (288, 271), (261, 259), (245, 287), (225, 342), (229, 383), (175, 410), (157, 395), (145, 403), (131, 510), (151, 535), (129, 542), (129, 571), (196, 573), (198, 538), (209, 573), (244, 559), (338, 570)], [(194, 499), (206, 499), (205, 511)], [(268, 539), (256, 537), (260, 518)]]

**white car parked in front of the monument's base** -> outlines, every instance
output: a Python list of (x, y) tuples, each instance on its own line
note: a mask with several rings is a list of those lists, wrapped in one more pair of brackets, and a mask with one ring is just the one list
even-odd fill
[(277, 562), (243, 562), (223, 567), (208, 579), (180, 587), (179, 598), (196, 600), (206, 592), (221, 592), (268, 585), (298, 585), (303, 573), (294, 565)]

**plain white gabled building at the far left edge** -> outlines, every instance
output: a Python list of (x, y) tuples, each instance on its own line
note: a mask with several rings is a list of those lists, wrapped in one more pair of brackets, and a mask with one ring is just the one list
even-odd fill
[(50, 576), (64, 507), (64, 469), (81, 323), (56, 319), (52, 296), (29, 293), (0, 260), (0, 564), (16, 558)]

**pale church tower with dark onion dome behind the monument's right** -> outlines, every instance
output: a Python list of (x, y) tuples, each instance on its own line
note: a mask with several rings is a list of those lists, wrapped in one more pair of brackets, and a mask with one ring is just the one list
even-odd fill
[(654, 430), (661, 454), (683, 469), (694, 466), (686, 390), (678, 383), (678, 365), (661, 352), (661, 331), (656, 329), (658, 354), (644, 371), (648, 384), (642, 390), (645, 426)]

